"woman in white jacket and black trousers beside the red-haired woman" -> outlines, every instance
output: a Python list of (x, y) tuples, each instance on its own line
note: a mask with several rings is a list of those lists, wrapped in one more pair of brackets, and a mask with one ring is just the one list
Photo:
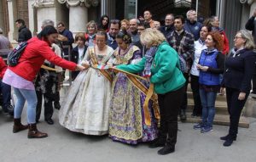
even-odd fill
[(201, 52), (204, 49), (207, 49), (206, 46), (206, 39), (207, 35), (211, 29), (207, 26), (203, 26), (200, 31), (200, 38), (195, 41), (195, 54), (194, 54), (194, 61), (190, 70), (190, 78), (191, 78), (191, 89), (193, 92), (193, 99), (194, 99), (194, 109), (193, 114), (191, 116), (201, 116), (201, 99), (199, 93), (199, 70), (196, 68), (199, 59), (201, 57)]

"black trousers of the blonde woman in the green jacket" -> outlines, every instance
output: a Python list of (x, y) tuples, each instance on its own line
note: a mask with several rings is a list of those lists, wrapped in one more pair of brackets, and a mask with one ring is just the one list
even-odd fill
[(181, 87), (174, 92), (158, 94), (160, 107), (159, 139), (172, 146), (177, 142), (177, 115), (183, 101), (184, 92), (185, 87)]

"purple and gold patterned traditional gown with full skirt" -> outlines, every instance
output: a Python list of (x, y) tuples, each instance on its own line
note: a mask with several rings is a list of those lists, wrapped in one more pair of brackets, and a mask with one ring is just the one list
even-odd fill
[[(141, 59), (141, 53), (136, 46), (131, 46), (124, 55), (120, 55), (119, 52), (118, 47), (114, 52), (113, 64), (136, 64)], [(141, 82), (148, 87), (148, 81)], [(154, 119), (152, 103), (149, 103), (151, 125), (145, 124), (145, 97), (143, 92), (133, 85), (129, 76), (119, 72), (114, 77), (108, 132), (113, 141), (137, 144), (153, 141), (157, 137), (157, 122)]]

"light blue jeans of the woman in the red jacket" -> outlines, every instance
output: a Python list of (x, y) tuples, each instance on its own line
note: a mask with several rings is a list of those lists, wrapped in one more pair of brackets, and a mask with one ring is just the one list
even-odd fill
[(36, 123), (36, 108), (38, 103), (38, 98), (35, 90), (19, 89), (15, 88), (15, 95), (17, 96), (17, 101), (15, 103), (15, 119), (21, 117), (21, 113), (25, 102), (27, 103), (26, 118), (28, 124)]

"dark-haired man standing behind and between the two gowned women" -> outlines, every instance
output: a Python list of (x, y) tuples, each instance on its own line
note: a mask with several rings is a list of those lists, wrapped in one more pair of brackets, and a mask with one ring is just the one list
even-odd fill
[(118, 47), (117, 42), (115, 41), (115, 36), (119, 33), (120, 30), (120, 21), (111, 20), (110, 27), (108, 31), (108, 46), (112, 47), (115, 50)]

